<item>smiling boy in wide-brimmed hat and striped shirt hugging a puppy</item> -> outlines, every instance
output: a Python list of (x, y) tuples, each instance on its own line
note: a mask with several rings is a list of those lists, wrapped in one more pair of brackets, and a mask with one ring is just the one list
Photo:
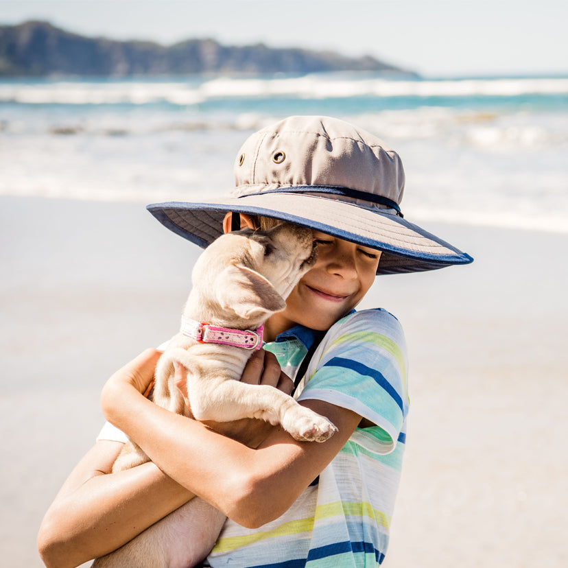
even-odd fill
[(265, 351), (243, 380), (291, 392), (294, 377), (298, 401), (338, 432), (321, 444), (296, 442), (241, 421), (226, 433), (244, 443), (217, 434), (143, 397), (159, 356), (147, 351), (111, 377), (102, 405), (152, 462), (109, 475), (124, 438), (106, 426), (46, 515), (38, 542), (48, 566), (111, 552), (170, 512), (190, 510), (181, 506), (194, 495), (211, 504), (200, 506), (204, 530), (196, 534), (187, 519), (172, 541), (213, 545), (222, 528), (212, 567), (375, 566), (384, 558), (406, 435), (407, 357), (396, 318), (354, 308), (376, 274), (472, 259), (403, 219), (399, 156), (343, 121), (290, 117), (257, 132), (237, 155), (235, 179), (228, 198), (148, 209), (200, 246), (267, 218), (313, 229), (318, 261), (265, 324)]

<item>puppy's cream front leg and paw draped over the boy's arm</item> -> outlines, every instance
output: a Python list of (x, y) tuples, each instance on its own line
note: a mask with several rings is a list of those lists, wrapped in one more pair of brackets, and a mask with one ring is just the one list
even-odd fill
[(304, 442), (324, 442), (338, 431), (327, 418), (272, 386), (195, 377), (188, 381), (188, 391), (198, 420), (261, 418), (272, 425), (281, 424), (293, 438)]

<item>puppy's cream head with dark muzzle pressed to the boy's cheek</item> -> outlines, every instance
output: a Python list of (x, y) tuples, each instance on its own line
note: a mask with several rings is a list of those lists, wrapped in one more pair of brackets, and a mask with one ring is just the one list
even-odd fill
[(222, 235), (193, 268), (193, 291), (208, 312), (202, 318), (235, 327), (261, 324), (286, 307), (285, 298), (315, 262), (308, 228), (280, 224)]

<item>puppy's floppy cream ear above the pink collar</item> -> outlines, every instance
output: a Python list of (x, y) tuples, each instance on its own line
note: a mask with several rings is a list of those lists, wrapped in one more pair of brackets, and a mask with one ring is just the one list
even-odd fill
[(231, 263), (215, 282), (215, 297), (241, 318), (261, 318), (286, 307), (284, 298), (262, 274)]

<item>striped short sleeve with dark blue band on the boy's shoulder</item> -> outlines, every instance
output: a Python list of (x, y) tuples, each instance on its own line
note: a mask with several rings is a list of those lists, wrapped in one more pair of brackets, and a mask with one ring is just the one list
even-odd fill
[(409, 405), (406, 345), (399, 321), (383, 309), (342, 318), (314, 353), (303, 382), (298, 401), (317, 399), (357, 412), (378, 428), (357, 429), (352, 439), (378, 453), (390, 453)]

